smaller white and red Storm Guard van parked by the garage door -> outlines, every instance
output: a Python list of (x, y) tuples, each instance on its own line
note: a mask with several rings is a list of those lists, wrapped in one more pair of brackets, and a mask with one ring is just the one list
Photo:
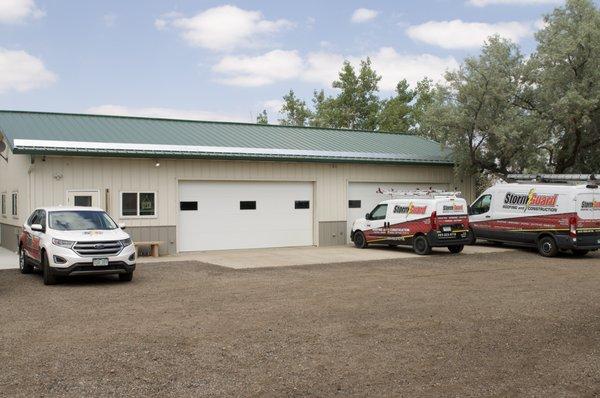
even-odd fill
[(350, 238), (358, 248), (368, 245), (412, 246), (417, 254), (432, 247), (460, 253), (471, 240), (467, 202), (458, 192), (382, 192), (384, 200), (354, 221)]

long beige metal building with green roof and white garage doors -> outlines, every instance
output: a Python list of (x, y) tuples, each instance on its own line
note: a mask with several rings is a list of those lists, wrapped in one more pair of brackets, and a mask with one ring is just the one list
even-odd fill
[(335, 245), (378, 187), (457, 181), (438, 143), (410, 134), (0, 111), (0, 242), (38, 206), (106, 209), (161, 252)]

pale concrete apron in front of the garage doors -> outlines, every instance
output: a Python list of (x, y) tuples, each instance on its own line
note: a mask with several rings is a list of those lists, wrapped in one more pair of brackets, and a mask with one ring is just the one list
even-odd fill
[[(496, 253), (511, 249), (494, 246), (465, 246), (459, 255)], [(450, 255), (448, 249), (434, 248), (432, 256)], [(215, 250), (185, 252), (164, 257), (139, 257), (138, 264), (164, 263), (176, 261), (199, 261), (234, 269), (287, 267), (293, 265), (345, 263), (353, 261), (373, 261), (401, 258), (423, 258), (411, 248), (372, 246), (357, 249), (354, 246), (325, 247), (282, 247), (270, 249)]]

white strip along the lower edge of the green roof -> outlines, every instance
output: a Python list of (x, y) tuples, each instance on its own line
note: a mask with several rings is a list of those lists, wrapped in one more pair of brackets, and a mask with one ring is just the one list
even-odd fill
[(294, 160), (361, 163), (403, 163), (452, 165), (452, 160), (418, 159), (409, 154), (374, 152), (339, 152), (303, 149), (243, 148), (187, 145), (132, 144), (15, 139), (15, 154), (106, 156), (106, 157), (171, 157), (212, 159)]

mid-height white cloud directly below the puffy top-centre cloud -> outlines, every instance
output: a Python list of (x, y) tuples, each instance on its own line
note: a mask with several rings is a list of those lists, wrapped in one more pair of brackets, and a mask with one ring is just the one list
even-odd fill
[(258, 87), (293, 79), (303, 69), (297, 51), (273, 50), (263, 55), (227, 56), (213, 66), (213, 71), (225, 75), (219, 79), (232, 86)]

